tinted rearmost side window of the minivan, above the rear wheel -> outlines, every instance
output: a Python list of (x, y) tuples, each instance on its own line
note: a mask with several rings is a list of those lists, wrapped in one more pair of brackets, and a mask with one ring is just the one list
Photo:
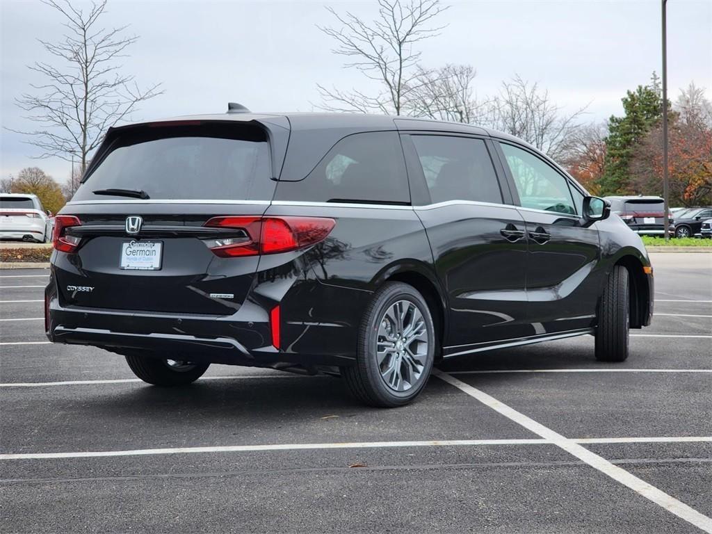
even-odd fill
[(364, 132), (336, 143), (299, 182), (280, 182), (278, 200), (409, 204), (397, 132)]

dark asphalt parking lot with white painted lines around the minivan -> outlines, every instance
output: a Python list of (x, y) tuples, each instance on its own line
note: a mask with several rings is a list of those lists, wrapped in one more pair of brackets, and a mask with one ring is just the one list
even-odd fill
[(46, 271), (0, 271), (0, 531), (712, 532), (712, 254), (651, 256), (624, 364), (592, 337), (464, 357), (400, 409), (241, 367), (150, 387), (48, 344)]

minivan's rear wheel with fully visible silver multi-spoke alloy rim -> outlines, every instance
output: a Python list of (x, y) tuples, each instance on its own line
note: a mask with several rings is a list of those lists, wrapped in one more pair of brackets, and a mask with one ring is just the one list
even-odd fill
[(365, 404), (404, 406), (428, 382), (435, 344), (435, 326), (423, 296), (406, 283), (385, 283), (366, 308), (355, 365), (342, 367), (342, 379)]

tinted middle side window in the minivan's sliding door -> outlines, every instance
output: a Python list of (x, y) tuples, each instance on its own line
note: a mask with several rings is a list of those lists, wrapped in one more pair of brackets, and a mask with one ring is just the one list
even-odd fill
[(431, 202), (502, 202), (485, 142), (468, 137), (412, 135)]

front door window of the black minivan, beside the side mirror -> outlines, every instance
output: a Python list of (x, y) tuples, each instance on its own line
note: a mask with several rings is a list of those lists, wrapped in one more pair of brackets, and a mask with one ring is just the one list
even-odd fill
[(576, 214), (567, 180), (531, 152), (500, 143), (524, 208)]

